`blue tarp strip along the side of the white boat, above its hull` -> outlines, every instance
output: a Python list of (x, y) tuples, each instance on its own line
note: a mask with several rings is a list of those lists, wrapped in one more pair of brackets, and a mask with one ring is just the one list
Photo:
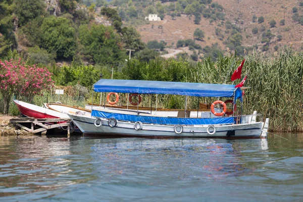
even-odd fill
[(92, 110), (91, 116), (102, 118), (115, 118), (121, 121), (141, 121), (142, 123), (153, 124), (169, 124), (169, 125), (209, 125), (209, 124), (232, 124), (233, 117), (222, 118), (177, 118), (177, 117), (151, 117), (151, 116), (137, 116), (128, 114), (118, 114)]

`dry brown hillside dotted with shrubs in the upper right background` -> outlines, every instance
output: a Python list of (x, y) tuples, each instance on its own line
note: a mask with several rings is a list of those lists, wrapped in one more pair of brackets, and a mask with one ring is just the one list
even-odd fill
[[(176, 5), (177, 2), (172, 3)], [(303, 48), (303, 25), (293, 20), (295, 13), (299, 17), (303, 15), (302, 3), (299, 3), (299, 1), (215, 0), (212, 3), (223, 6), (224, 20), (217, 19), (210, 22), (209, 18), (201, 17), (199, 24), (195, 24), (194, 14), (181, 14), (181, 16), (176, 16), (174, 19), (166, 14), (161, 22), (150, 21), (136, 27), (145, 43), (150, 40), (164, 40), (171, 48), (176, 48), (177, 41), (180, 39), (194, 39), (194, 30), (199, 28), (204, 31), (205, 37), (204, 40), (195, 40), (195, 42), (202, 48), (218, 43), (224, 51), (227, 47), (234, 49), (228, 44), (231, 41), (229, 38), (232, 37), (234, 29), (228, 27), (228, 23), (239, 29), (241, 46), (246, 51), (257, 48), (258, 52), (272, 52), (283, 48), (284, 45), (292, 46), (294, 50)], [(157, 5), (156, 2), (154, 4)], [(206, 9), (211, 8), (211, 6), (211, 4), (207, 5)], [(295, 7), (297, 12), (294, 13), (292, 8)], [(252, 22), (254, 15), (257, 18), (255, 22)], [(258, 23), (258, 18), (261, 16), (264, 17), (264, 22)], [(284, 25), (281, 22), (283, 19), (285, 20)], [(270, 22), (272, 20), (276, 24), (271, 27)], [(258, 29), (258, 33), (252, 33), (254, 28), (255, 32), (256, 28)]]

